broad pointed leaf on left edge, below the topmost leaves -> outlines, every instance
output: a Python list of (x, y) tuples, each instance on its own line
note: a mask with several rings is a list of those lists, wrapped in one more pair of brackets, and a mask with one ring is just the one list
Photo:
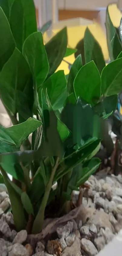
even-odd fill
[(19, 100), (18, 97), (21, 98), (21, 95), (17, 97), (17, 90), (23, 91), (27, 85), (28, 91), (31, 90), (31, 71), (21, 52), (15, 48), (0, 73), (1, 98), (13, 114), (16, 113), (16, 101)]

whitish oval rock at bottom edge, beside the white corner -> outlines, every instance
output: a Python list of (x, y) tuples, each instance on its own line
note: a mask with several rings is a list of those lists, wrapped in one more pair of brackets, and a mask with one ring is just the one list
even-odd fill
[(85, 252), (87, 252), (89, 256), (95, 256), (98, 253), (94, 244), (90, 240), (87, 240), (86, 238), (81, 239), (81, 248)]

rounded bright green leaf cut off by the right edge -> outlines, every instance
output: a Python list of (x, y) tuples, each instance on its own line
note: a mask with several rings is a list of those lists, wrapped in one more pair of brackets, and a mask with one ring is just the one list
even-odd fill
[(101, 91), (104, 96), (121, 92), (122, 58), (116, 59), (104, 67), (101, 74)]

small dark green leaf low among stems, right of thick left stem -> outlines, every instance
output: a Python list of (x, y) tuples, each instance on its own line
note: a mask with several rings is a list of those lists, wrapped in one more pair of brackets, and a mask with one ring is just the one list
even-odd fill
[(31, 200), (30, 198), (28, 197), (27, 193), (26, 192), (23, 192), (21, 194), (21, 202), (23, 204), (23, 207), (25, 209), (25, 211), (28, 213), (28, 214), (32, 214), (34, 215), (34, 211), (33, 211), (33, 206), (31, 204)]

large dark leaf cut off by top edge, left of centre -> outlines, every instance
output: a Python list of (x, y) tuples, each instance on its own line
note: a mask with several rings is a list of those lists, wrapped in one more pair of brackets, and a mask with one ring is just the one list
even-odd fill
[(37, 31), (33, 0), (15, 0), (11, 8), (10, 26), (17, 48), (22, 51), (25, 39)]

